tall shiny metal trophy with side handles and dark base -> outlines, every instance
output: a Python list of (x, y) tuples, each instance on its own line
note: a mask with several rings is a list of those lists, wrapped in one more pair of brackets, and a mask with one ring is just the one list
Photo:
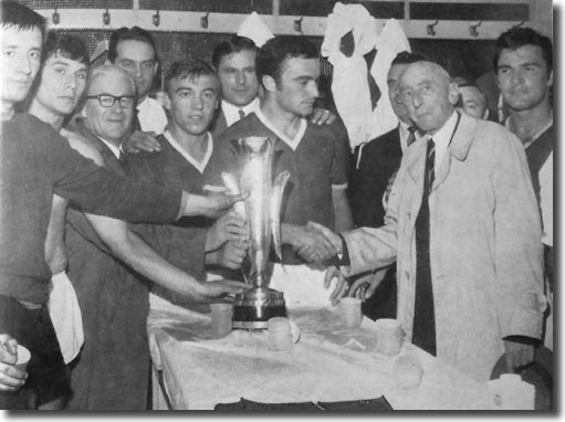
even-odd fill
[[(266, 328), (270, 318), (286, 316), (282, 292), (269, 288), (268, 273), (271, 236), (274, 251), (281, 254), (281, 203), (290, 172), (284, 170), (272, 181), (274, 141), (266, 137), (232, 140), (240, 159), (240, 179), (223, 172), (222, 180), (230, 193), (249, 192), (249, 197), (234, 204), (234, 210), (247, 220), (249, 241), (245, 282), (251, 288), (236, 295), (233, 328)], [(245, 274), (248, 273), (248, 274)]]

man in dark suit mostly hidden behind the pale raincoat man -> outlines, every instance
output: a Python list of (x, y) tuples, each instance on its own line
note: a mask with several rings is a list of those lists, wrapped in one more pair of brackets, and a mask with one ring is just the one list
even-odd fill
[[(421, 54), (404, 51), (393, 60), (387, 74), (388, 99), (398, 117), (398, 127), (355, 150), (356, 166), (352, 170), (348, 192), (353, 222), (357, 228), (378, 228), (385, 221), (383, 198), (389, 179), (400, 167), (404, 151), (417, 136), (416, 127), (400, 98), (398, 80), (410, 63), (425, 59)], [(357, 294), (365, 302), (363, 312), (369, 318), (395, 318), (396, 265), (389, 265), (357, 279), (350, 288), (350, 294)]]

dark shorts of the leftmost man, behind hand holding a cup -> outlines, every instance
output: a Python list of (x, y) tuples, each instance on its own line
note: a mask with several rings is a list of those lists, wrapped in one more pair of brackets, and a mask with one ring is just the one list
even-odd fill
[(24, 387), (18, 393), (0, 392), (0, 409), (25, 409), (29, 390), (36, 394), (38, 405), (72, 395), (46, 305), (29, 309), (17, 299), (0, 295), (0, 333), (9, 334), (31, 351)]

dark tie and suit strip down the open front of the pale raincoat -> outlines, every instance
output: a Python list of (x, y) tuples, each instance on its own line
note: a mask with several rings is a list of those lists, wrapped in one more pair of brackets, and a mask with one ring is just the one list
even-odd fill
[(428, 140), (423, 193), (420, 211), (416, 219), (416, 297), (414, 306), (412, 342), (436, 356), (436, 315), (430, 267), (430, 208), (428, 203), (433, 184), (436, 146)]

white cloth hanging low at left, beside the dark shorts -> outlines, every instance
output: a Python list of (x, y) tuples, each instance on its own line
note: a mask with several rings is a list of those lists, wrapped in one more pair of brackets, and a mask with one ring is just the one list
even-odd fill
[(65, 363), (72, 361), (84, 342), (83, 320), (76, 293), (66, 273), (51, 277), (49, 313)]

